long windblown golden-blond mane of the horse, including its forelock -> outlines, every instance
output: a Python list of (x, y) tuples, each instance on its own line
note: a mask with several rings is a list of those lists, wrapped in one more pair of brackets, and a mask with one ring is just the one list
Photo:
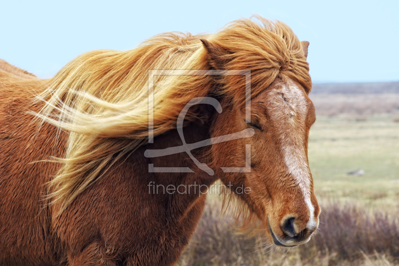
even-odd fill
[[(252, 97), (279, 75), (310, 91), (302, 44), (282, 22), (255, 16), (235, 20), (209, 35), (170, 32), (129, 51), (96, 50), (69, 62), (38, 96), (45, 102), (35, 114), (69, 132), (62, 167), (50, 182), (52, 203), (66, 208), (100, 173), (134, 151), (148, 137), (148, 70), (211, 69), (200, 38), (229, 51), (225, 69), (251, 70)], [(213, 84), (213, 85), (212, 85)], [(209, 75), (159, 76), (154, 87), (154, 135), (176, 126), (192, 98), (212, 94), (243, 102), (245, 86), (223, 76), (214, 86)], [(195, 114), (194, 114), (195, 115)]]

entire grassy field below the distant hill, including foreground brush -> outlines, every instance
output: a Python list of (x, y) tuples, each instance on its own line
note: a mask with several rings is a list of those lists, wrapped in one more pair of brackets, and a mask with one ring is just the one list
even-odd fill
[[(309, 164), (322, 208), (320, 231), (305, 245), (276, 250), (261, 236), (238, 234), (232, 220), (220, 216), (220, 199), (209, 195), (179, 266), (399, 265), (399, 94), (316, 94), (312, 100), (318, 116)], [(360, 169), (364, 175), (348, 174)]]

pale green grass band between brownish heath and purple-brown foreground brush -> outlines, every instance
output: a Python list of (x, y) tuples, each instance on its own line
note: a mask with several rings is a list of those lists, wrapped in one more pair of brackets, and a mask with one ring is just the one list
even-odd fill
[[(318, 117), (310, 131), (308, 156), (319, 198), (372, 206), (399, 201), (399, 123), (392, 116), (375, 115), (366, 121)], [(365, 175), (347, 174), (357, 169)]]

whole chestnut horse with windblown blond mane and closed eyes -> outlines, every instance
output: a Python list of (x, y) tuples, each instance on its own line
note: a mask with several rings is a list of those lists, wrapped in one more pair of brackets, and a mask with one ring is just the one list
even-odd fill
[(218, 180), (243, 227), (308, 242), (308, 45), (255, 16), (90, 51), (49, 79), (1, 67), (0, 265), (174, 265)]

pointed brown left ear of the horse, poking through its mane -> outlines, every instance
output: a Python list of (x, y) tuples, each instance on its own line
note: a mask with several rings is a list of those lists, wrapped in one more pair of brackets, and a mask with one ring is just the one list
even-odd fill
[(200, 39), (200, 41), (206, 50), (210, 65), (218, 70), (225, 69), (225, 65), (231, 60), (231, 54), (233, 52), (228, 51), (219, 45), (211, 43), (208, 40)]

